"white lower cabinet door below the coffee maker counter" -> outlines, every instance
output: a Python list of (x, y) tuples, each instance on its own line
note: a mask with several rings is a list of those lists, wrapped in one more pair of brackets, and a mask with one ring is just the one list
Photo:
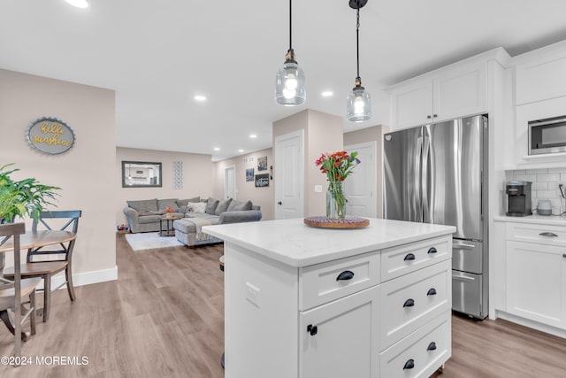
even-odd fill
[(507, 242), (507, 312), (566, 329), (566, 247)]

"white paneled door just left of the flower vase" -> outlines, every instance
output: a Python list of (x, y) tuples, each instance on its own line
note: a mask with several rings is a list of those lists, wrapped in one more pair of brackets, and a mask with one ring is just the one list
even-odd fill
[(303, 216), (303, 140), (302, 130), (275, 138), (273, 168), (276, 220)]

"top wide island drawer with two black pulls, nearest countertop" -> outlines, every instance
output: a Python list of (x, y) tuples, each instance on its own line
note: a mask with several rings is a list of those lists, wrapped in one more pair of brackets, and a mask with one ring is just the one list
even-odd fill
[(450, 235), (381, 251), (381, 282), (431, 266), (452, 256)]

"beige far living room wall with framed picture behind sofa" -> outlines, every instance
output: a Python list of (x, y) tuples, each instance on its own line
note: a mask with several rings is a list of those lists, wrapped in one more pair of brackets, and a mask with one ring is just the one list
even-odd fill
[[(163, 187), (122, 188), (122, 161), (161, 163)], [(173, 189), (173, 161), (183, 162), (183, 189)], [(113, 185), (114, 226), (127, 223), (123, 212), (126, 201), (150, 198), (183, 199), (197, 196), (208, 198), (215, 189), (214, 164), (210, 155), (118, 147), (114, 164), (116, 172), (112, 178), (112, 182), (115, 183)]]

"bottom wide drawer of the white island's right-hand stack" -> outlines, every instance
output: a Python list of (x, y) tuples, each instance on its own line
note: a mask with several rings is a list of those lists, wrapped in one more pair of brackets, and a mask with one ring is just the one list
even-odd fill
[(379, 355), (381, 377), (428, 377), (452, 354), (450, 312), (417, 329)]

